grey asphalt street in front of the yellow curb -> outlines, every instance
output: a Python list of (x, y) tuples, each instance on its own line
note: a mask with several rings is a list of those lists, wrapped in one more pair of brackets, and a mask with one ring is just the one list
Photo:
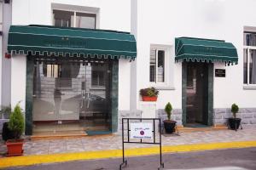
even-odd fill
[[(12, 167), (14, 170), (118, 170), (122, 159), (68, 161), (31, 167)], [(130, 157), (124, 170), (156, 170), (159, 156)], [(211, 150), (163, 155), (168, 169), (256, 170), (256, 148)]]

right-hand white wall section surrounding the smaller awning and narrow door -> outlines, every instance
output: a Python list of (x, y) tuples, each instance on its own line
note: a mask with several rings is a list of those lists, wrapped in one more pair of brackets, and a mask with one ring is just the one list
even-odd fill
[[(170, 101), (177, 112), (173, 118), (179, 125), (184, 125), (184, 109), (188, 106), (183, 86), (187, 81), (183, 78), (183, 64), (175, 63), (175, 38), (197, 37), (231, 42), (236, 47), (238, 65), (225, 66), (224, 62), (214, 62), (212, 72), (224, 69), (225, 77), (212, 76), (212, 125), (223, 124), (230, 117), (230, 106), (236, 103), (240, 106), (242, 123), (255, 124), (256, 91), (252, 69), (255, 52), (255, 34), (253, 45), (248, 45), (246, 38), (255, 31), (255, 2), (247, 1), (135, 1), (137, 8), (137, 94), (140, 88), (154, 86), (160, 90), (157, 110), (162, 114), (166, 103)], [(133, 8), (133, 9), (134, 9)], [(240, 11), (240, 12), (238, 12)], [(251, 48), (251, 60), (246, 62), (244, 49)], [(150, 82), (149, 56), (150, 48), (166, 49), (166, 81)], [(246, 52), (245, 52), (246, 53)], [(253, 54), (252, 54), (253, 53)], [(251, 63), (250, 63), (251, 62)], [(135, 74), (135, 73), (134, 73)], [(251, 75), (251, 76), (250, 76)], [(254, 76), (255, 77), (255, 76)], [(195, 79), (194, 79), (195, 80)], [(184, 93), (184, 94), (183, 94)], [(132, 95), (134, 107), (138, 107), (140, 96)], [(135, 97), (136, 96), (136, 97)], [(184, 103), (183, 103), (184, 102)], [(137, 105), (136, 105), (137, 104)], [(136, 106), (135, 106), (136, 105)], [(191, 104), (190, 105), (199, 105)], [(165, 114), (165, 113), (163, 113)], [(186, 114), (186, 113), (185, 113)], [(207, 113), (208, 114), (208, 113)], [(183, 122), (182, 122), (183, 120)]]

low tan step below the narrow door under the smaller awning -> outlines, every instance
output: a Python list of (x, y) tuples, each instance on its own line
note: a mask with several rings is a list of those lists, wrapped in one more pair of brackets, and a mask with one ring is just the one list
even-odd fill
[(205, 131), (218, 131), (218, 130), (228, 130), (227, 126), (217, 126), (217, 127), (177, 127), (178, 132), (191, 133), (191, 132), (205, 132)]

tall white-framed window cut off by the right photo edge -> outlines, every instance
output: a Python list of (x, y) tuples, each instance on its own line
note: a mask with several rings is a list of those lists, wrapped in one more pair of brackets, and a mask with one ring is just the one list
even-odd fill
[(256, 84), (256, 31), (244, 31), (243, 44), (243, 83)]

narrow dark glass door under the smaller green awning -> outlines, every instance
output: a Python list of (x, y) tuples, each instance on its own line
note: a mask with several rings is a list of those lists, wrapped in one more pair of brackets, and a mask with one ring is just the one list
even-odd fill
[(207, 125), (208, 119), (208, 65), (188, 63), (187, 65), (187, 104), (186, 126)]

